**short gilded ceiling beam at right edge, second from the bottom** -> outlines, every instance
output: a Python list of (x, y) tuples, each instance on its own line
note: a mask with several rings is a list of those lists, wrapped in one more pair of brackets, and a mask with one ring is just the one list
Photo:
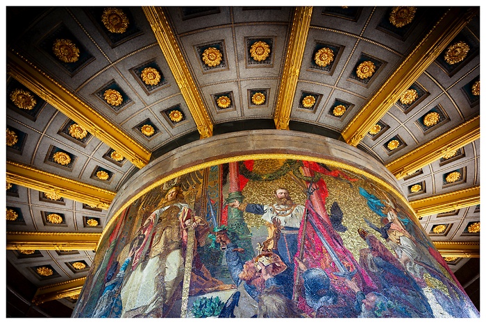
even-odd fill
[(480, 203), (480, 186), (460, 189), (438, 194), (427, 198), (410, 201), (410, 206), (417, 214), (417, 217), (439, 214), (441, 212), (450, 212), (460, 208), (479, 205)]

